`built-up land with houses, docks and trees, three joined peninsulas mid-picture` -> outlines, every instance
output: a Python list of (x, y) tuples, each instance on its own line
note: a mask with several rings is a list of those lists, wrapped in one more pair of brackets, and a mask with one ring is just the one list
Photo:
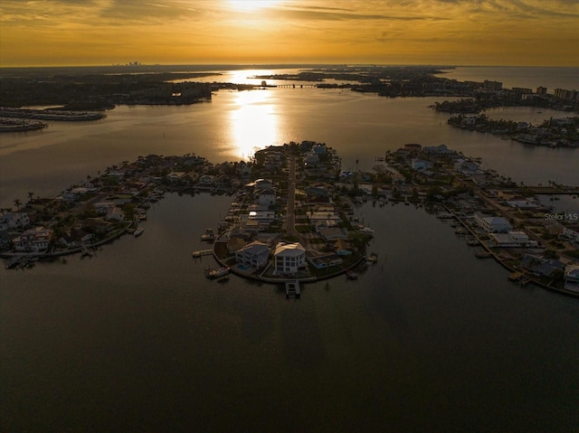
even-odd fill
[[(356, 218), (364, 202), (412, 205), (455, 227), (480, 259), (494, 258), (519, 284), (579, 296), (579, 215), (555, 213), (541, 194), (556, 198), (579, 187), (515, 184), (447, 146), (407, 144), (376, 156), (372, 172), (344, 169), (324, 143), (270, 146), (249, 162), (214, 165), (198, 155), (139, 156), (87, 176), (57, 197), (14, 200), (3, 209), (0, 242), (6, 268), (37, 259), (91, 255), (119, 236), (143, 233), (151, 202), (165, 193), (232, 197), (223, 221), (199, 233), (218, 268), (267, 283), (299, 284), (344, 275), (375, 263), (367, 250), (374, 230)], [(419, 212), (419, 211), (417, 211)]]

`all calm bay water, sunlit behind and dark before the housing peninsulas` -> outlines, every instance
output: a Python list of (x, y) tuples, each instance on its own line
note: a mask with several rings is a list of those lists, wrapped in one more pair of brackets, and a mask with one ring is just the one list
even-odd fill
[[(517, 182), (579, 183), (576, 151), (451, 129), (427, 108), (434, 100), (279, 89), (119, 107), (100, 122), (0, 136), (0, 201), (59, 193), (138, 155), (220, 162), (302, 139), (337, 148), (345, 166), (446, 143)], [(0, 267), (0, 429), (579, 428), (577, 299), (508, 283), (422, 209), (371, 203), (357, 212), (376, 229), (379, 263), (357, 281), (306, 285), (299, 301), (240, 278), (218, 284), (203, 277), (213, 259), (191, 250), (230, 201), (167, 194), (141, 237), (92, 259)]]

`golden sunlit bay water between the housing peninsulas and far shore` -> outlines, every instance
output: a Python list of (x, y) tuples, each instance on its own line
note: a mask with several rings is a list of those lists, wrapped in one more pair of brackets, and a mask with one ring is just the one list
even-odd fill
[[(212, 162), (247, 159), (257, 149), (304, 139), (335, 147), (343, 166), (371, 169), (375, 156), (405, 143), (441, 143), (479, 156), (517, 182), (577, 184), (576, 149), (525, 146), (446, 125), (428, 108), (437, 99), (386, 99), (351, 91), (270, 89), (220, 91), (187, 107), (127, 107), (96, 122), (57, 123), (40, 132), (0, 136), (0, 205), (28, 193), (56, 195), (107, 166), (138, 155), (195, 153)], [(492, 118), (540, 123), (567, 113), (530, 108), (489, 110)]]

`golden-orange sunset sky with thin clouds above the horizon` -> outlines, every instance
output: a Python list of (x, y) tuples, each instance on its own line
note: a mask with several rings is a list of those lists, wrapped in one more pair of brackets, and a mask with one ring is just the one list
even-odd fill
[(2, 0), (0, 65), (579, 66), (577, 0)]

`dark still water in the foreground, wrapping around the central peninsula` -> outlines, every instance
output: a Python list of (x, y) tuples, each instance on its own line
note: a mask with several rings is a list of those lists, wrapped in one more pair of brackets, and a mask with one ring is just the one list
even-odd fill
[(93, 259), (0, 268), (3, 431), (577, 431), (579, 304), (412, 206), (379, 263), (287, 300), (202, 276), (229, 197), (168, 195)]

